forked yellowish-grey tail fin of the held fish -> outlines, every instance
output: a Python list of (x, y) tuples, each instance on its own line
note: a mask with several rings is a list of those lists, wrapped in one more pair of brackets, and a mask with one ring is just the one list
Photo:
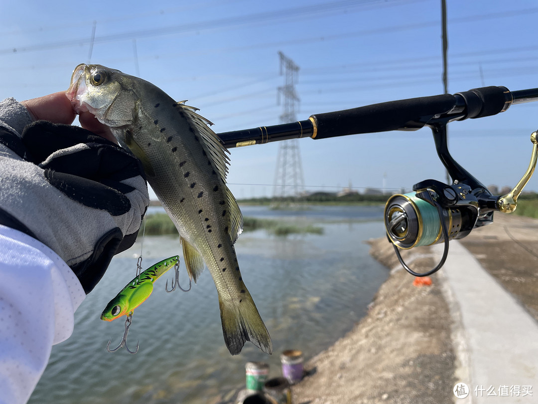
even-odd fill
[(271, 337), (248, 291), (238, 304), (224, 303), (219, 294), (218, 305), (221, 309), (224, 342), (232, 355), (240, 353), (246, 341), (265, 353), (273, 352)]

